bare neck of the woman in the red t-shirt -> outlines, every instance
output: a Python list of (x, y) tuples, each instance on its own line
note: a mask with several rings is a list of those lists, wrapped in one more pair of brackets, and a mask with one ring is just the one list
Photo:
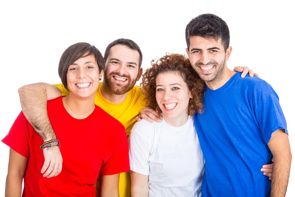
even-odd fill
[(95, 108), (94, 97), (95, 94), (88, 98), (77, 98), (70, 93), (69, 96), (62, 98), (63, 106), (73, 118), (85, 119)]

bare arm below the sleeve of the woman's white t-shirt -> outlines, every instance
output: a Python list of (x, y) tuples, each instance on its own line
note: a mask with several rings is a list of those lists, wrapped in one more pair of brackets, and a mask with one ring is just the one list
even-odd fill
[(148, 175), (130, 171), (131, 196), (148, 197)]

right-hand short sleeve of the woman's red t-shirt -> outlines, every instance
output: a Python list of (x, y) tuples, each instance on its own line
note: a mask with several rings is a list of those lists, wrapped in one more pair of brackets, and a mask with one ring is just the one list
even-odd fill
[(116, 148), (113, 155), (101, 166), (100, 175), (112, 175), (130, 171), (128, 139), (123, 126), (120, 127), (120, 131), (118, 131), (116, 142), (114, 143)]

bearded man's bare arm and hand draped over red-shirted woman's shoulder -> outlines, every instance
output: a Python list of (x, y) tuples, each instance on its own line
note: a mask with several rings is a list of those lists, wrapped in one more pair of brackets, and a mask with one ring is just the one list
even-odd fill
[[(44, 141), (56, 139), (47, 114), (47, 100), (61, 96), (61, 92), (53, 85), (35, 83), (18, 90), (22, 110), (36, 132)], [(38, 144), (39, 145), (39, 144)], [(62, 169), (62, 157), (58, 146), (43, 149), (44, 164), (41, 169), (44, 177), (57, 176)]]

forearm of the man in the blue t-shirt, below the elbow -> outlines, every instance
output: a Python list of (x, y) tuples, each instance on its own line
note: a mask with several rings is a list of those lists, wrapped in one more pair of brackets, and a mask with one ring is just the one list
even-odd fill
[(285, 197), (288, 187), (292, 155), (274, 157), (270, 197)]

